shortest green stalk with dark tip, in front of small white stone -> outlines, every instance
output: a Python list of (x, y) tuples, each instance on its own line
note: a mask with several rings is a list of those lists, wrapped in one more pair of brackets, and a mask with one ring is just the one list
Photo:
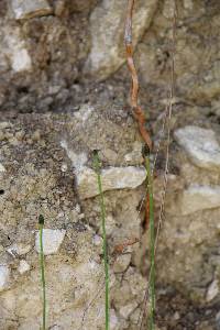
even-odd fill
[(38, 229), (40, 229), (40, 266), (41, 266), (41, 283), (42, 283), (42, 330), (46, 330), (46, 280), (45, 280), (45, 262), (44, 262), (44, 245), (43, 245), (43, 229), (44, 229), (44, 217), (38, 216)]

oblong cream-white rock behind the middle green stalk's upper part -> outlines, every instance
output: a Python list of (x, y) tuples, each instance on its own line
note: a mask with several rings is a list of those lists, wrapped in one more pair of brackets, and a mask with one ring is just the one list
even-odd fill
[[(102, 190), (134, 189), (144, 182), (145, 177), (146, 170), (144, 167), (128, 166), (102, 169)], [(99, 195), (97, 174), (91, 168), (85, 167), (77, 174), (77, 185), (82, 199)]]

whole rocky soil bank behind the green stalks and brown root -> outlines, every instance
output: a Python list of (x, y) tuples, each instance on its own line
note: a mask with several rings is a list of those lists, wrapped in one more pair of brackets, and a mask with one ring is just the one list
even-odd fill
[[(177, 0), (175, 98), (156, 255), (160, 330), (220, 329), (220, 2)], [(111, 329), (138, 330), (148, 272), (142, 141), (129, 107), (127, 0), (0, 2), (0, 329), (41, 324), (37, 217), (45, 217), (50, 329), (103, 329), (100, 151)], [(140, 99), (161, 143), (163, 197), (173, 0), (136, 0)], [(152, 162), (153, 162), (152, 157)], [(122, 254), (114, 246), (138, 242)]]

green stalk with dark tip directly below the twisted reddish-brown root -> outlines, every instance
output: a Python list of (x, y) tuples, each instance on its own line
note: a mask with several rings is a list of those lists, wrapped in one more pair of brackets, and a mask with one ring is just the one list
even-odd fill
[(153, 178), (151, 172), (150, 157), (145, 157), (146, 177), (147, 177), (147, 194), (148, 194), (148, 219), (150, 219), (150, 315), (148, 330), (154, 330), (154, 311), (155, 311), (155, 232), (154, 232), (154, 197), (153, 197)]

